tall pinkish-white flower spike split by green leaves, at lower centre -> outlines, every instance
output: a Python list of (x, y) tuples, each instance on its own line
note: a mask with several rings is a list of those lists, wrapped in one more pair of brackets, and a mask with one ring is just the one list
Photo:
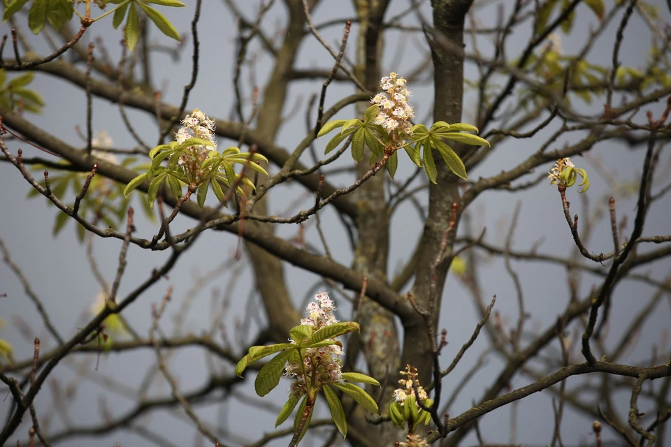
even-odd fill
[[(315, 301), (308, 304), (306, 309), (308, 316), (301, 319), (301, 324), (315, 326), (315, 330), (317, 330), (338, 323), (338, 320), (333, 316), (334, 309), (333, 300), (329, 298), (329, 294), (319, 292), (315, 295)], [(293, 340), (291, 342), (295, 343)], [(324, 383), (342, 383), (340, 356), (344, 352), (340, 342), (335, 339), (330, 346), (305, 349), (303, 365), (300, 362), (289, 362), (284, 372), (287, 377), (296, 377), (296, 381), (291, 383), (291, 393), (303, 395), (308, 392), (311, 385), (319, 388)], [(313, 377), (314, 384), (311, 383)]]

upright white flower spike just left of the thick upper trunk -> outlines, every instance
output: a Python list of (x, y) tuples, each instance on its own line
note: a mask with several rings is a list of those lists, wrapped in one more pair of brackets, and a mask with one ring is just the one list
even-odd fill
[(410, 119), (414, 117), (414, 111), (407, 98), (412, 96), (412, 90), (405, 88), (405, 78), (396, 73), (389, 73), (380, 80), (380, 87), (384, 93), (378, 93), (370, 100), (371, 103), (380, 106), (380, 112), (375, 117), (374, 124), (379, 124), (388, 132), (401, 130), (410, 135)]

